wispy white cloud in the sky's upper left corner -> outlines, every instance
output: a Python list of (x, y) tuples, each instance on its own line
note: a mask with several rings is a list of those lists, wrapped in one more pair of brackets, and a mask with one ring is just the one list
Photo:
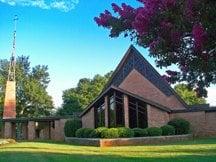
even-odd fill
[(74, 9), (79, 0), (0, 0), (0, 2), (10, 6), (38, 7), (69, 12)]

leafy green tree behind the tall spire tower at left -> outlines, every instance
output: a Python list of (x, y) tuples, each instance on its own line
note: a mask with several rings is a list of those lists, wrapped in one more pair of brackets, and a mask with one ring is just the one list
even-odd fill
[[(5, 85), (8, 75), (8, 60), (0, 60), (0, 108), (4, 104)], [(46, 88), (50, 82), (48, 66), (30, 66), (29, 57), (16, 60), (16, 111), (17, 117), (40, 117), (50, 115), (53, 109), (51, 96)]]

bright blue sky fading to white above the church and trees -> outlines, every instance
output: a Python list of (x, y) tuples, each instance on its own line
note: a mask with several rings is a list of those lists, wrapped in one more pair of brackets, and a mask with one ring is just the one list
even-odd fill
[[(30, 56), (32, 65), (49, 66), (48, 92), (60, 106), (63, 90), (76, 86), (80, 78), (113, 70), (131, 44), (109, 38), (93, 21), (112, 2), (137, 5), (135, 0), (0, 0), (0, 59), (10, 57), (17, 14), (17, 55)], [(154, 65), (148, 51), (137, 48)], [(209, 101), (216, 102), (216, 88), (209, 91)]]

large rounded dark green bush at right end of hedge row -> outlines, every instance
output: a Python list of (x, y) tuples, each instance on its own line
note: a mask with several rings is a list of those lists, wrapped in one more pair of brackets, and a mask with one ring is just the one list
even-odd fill
[(168, 122), (168, 125), (171, 125), (175, 128), (175, 134), (188, 134), (190, 131), (190, 123), (184, 119), (173, 119)]

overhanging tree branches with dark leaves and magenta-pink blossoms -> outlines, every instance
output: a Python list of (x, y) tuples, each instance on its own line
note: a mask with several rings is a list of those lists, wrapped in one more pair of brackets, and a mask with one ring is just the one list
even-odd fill
[(186, 81), (198, 96), (216, 83), (216, 1), (138, 0), (140, 7), (112, 4), (95, 21), (110, 37), (129, 37), (149, 49), (158, 67), (172, 64), (163, 77), (169, 83)]

